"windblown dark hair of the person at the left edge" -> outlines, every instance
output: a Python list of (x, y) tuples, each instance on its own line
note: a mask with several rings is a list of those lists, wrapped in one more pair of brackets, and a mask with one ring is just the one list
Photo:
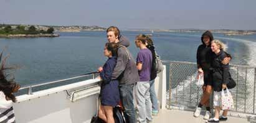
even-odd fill
[(19, 90), (21, 87), (19, 84), (14, 82), (14, 78), (7, 79), (9, 74), (7, 73), (9, 70), (14, 69), (14, 67), (6, 67), (6, 59), (7, 56), (2, 59), (2, 53), (0, 54), (0, 91), (6, 95), (6, 100), (12, 100), (12, 102), (16, 102), (16, 97), (14, 96), (14, 92)]

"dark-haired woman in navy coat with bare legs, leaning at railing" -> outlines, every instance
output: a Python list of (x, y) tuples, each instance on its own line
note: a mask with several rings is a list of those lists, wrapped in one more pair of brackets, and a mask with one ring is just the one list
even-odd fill
[(117, 43), (106, 43), (104, 55), (108, 57), (103, 67), (99, 67), (100, 78), (103, 80), (100, 88), (101, 105), (98, 117), (107, 123), (115, 123), (113, 107), (120, 101), (119, 82), (111, 80), (112, 72), (116, 66)]

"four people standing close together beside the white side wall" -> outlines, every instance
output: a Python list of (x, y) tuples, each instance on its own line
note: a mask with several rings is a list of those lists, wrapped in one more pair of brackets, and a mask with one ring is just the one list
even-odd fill
[[(121, 101), (125, 121), (135, 123), (135, 100), (139, 121), (152, 122), (152, 113), (158, 114), (158, 100), (154, 91), (156, 73), (152, 72), (155, 56), (153, 41), (146, 35), (136, 36), (135, 45), (140, 51), (135, 61), (127, 48), (130, 42), (120, 34), (117, 27), (107, 28), (107, 38), (104, 54), (108, 60), (103, 67), (98, 68), (100, 78), (103, 80), (98, 117), (105, 122), (114, 123), (113, 107), (118, 106)], [(133, 90), (135, 90), (135, 99)]]

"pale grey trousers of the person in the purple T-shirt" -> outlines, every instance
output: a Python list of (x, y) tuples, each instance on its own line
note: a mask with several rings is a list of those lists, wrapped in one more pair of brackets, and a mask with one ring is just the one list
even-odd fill
[(147, 121), (153, 121), (151, 116), (152, 103), (149, 94), (149, 82), (137, 82), (135, 87), (136, 102), (139, 111), (140, 123), (146, 123)]

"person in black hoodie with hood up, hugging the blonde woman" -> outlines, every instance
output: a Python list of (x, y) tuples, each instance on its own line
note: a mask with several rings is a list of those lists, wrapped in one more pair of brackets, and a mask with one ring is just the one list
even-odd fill
[[(211, 41), (214, 40), (214, 37), (212, 36), (212, 33), (207, 30), (204, 32), (201, 36), (202, 45), (200, 45), (197, 48), (197, 69), (199, 74), (204, 75), (204, 85), (202, 86), (203, 95), (201, 97), (201, 101), (198, 104), (196, 111), (194, 112), (195, 117), (199, 117), (202, 106), (206, 106), (206, 114), (204, 116), (204, 119), (210, 118), (210, 106), (209, 106), (209, 98), (212, 93), (212, 78), (210, 74), (210, 68), (211, 68), (211, 61), (212, 56), (214, 53), (211, 50)], [(223, 64), (229, 64), (230, 61), (230, 55), (228, 57), (225, 57), (224, 61), (222, 61)]]

